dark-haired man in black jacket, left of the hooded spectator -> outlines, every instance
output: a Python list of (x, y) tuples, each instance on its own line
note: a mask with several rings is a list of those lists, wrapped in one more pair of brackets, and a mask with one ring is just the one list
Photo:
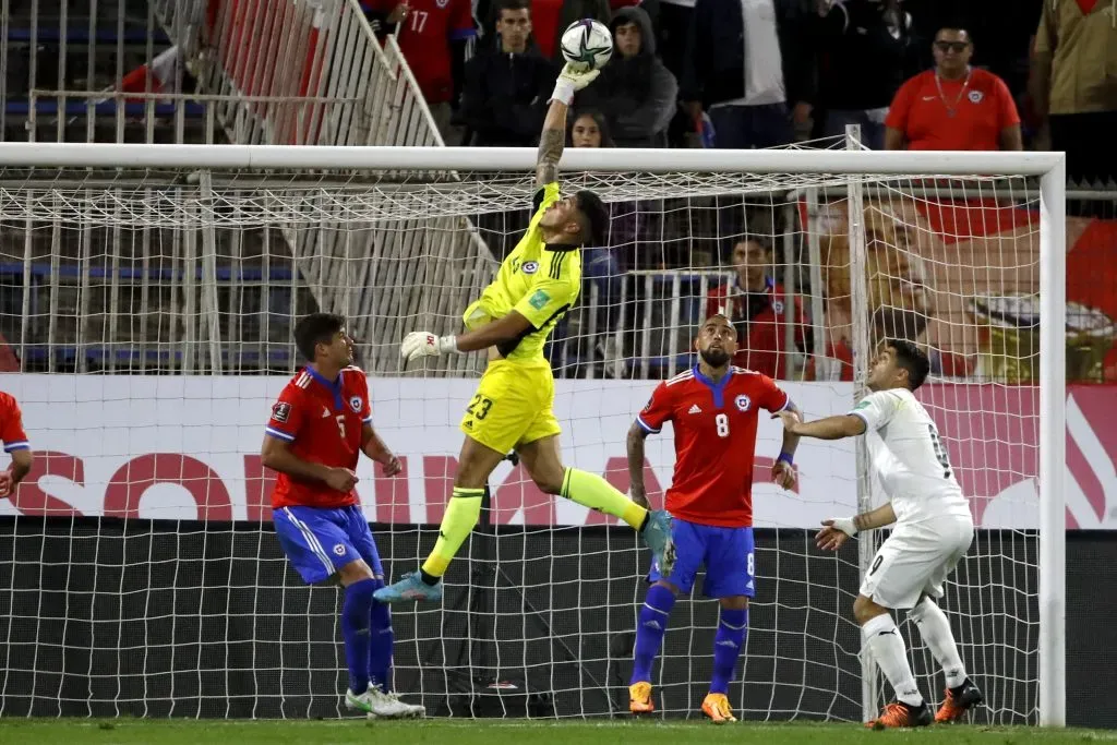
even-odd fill
[(469, 144), (527, 147), (543, 128), (557, 70), (531, 44), (529, 0), (499, 0), (497, 46), (466, 63), (462, 117)]

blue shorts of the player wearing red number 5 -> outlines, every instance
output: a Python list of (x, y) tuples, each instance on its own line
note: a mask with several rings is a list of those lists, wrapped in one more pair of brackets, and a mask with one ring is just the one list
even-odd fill
[(307, 584), (325, 582), (359, 558), (375, 576), (384, 575), (369, 522), (356, 505), (336, 509), (280, 507), (271, 519), (283, 552)]

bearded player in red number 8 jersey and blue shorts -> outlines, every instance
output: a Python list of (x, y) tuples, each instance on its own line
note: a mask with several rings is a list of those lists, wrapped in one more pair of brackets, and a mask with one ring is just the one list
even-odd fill
[[(636, 634), (636, 660), (629, 685), (633, 714), (655, 710), (651, 666), (659, 655), (679, 592), (689, 593), (706, 565), (703, 593), (717, 598), (722, 615), (714, 637), (714, 676), (701, 710), (715, 723), (736, 722), (726, 693), (748, 629), (748, 599), (755, 594), (753, 560), (753, 458), (761, 409), (794, 411), (791, 399), (767, 375), (729, 364), (737, 332), (729, 319), (706, 319), (695, 341), (698, 364), (656, 388), (628, 434), (632, 499), (647, 507), (643, 441), (670, 421), (675, 430), (675, 475), (667, 490), (675, 539), (669, 576), (652, 564)], [(772, 479), (795, 485), (792, 459), (799, 438), (784, 433)]]

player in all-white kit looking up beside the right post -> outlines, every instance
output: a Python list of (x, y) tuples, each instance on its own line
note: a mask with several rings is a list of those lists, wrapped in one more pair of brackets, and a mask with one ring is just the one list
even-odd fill
[[(896, 701), (870, 727), (916, 727), (956, 722), (982, 701), (966, 677), (946, 614), (935, 602), (943, 582), (974, 537), (970, 504), (954, 478), (934, 420), (913, 395), (930, 371), (927, 356), (911, 342), (888, 340), (869, 371), (869, 395), (848, 414), (803, 423), (780, 412), (792, 434), (838, 440), (867, 434), (873, 467), (891, 500), (855, 517), (823, 520), (817, 543), (837, 551), (861, 531), (896, 524), (880, 546), (853, 602), (861, 625)], [(932, 717), (919, 694), (907, 650), (890, 609), (908, 611), (946, 676), (946, 697)]]

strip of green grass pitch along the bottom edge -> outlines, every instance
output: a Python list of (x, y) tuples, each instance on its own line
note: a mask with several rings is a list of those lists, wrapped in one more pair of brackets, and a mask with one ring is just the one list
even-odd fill
[(226, 722), (194, 719), (0, 719), (0, 743), (77, 745), (276, 745), (376, 743), (404, 745), (848, 745), (853, 743), (951, 743), (952, 745), (1046, 745), (1117, 743), (1117, 732), (1029, 727), (942, 726), (917, 730), (869, 732), (856, 724), (751, 724), (714, 726), (705, 722), (450, 720)]

